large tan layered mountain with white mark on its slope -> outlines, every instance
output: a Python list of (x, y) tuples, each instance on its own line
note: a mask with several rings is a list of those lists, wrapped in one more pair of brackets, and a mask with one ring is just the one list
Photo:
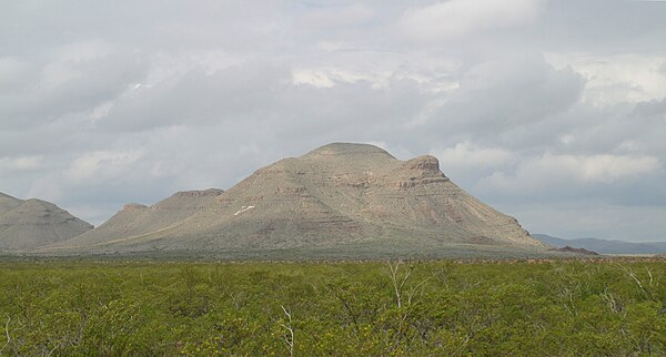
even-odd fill
[(400, 161), (366, 144), (334, 143), (281, 160), (196, 205), (170, 217), (131, 205), (48, 252), (372, 258), (548, 248), (451, 182), (434, 156)]

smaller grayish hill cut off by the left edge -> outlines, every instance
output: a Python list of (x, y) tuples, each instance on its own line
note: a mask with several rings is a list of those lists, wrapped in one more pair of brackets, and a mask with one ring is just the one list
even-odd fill
[(0, 193), (0, 252), (34, 249), (92, 228), (52, 203)]

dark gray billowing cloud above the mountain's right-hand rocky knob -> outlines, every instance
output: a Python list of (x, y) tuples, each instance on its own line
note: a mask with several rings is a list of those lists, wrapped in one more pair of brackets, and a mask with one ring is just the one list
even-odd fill
[[(461, 75), (460, 88), (446, 96), (432, 120), (444, 133), (462, 129), (470, 139), (486, 144), (531, 144), (544, 121), (578, 100), (584, 84), (572, 69), (555, 70), (538, 57), (492, 59)], [(525, 126), (531, 126), (526, 135), (519, 132)]]

